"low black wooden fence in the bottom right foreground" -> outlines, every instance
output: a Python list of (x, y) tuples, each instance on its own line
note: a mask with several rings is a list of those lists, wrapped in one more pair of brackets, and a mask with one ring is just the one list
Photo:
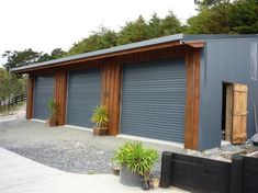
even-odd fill
[(257, 193), (258, 158), (234, 156), (232, 162), (165, 151), (160, 186), (191, 192)]

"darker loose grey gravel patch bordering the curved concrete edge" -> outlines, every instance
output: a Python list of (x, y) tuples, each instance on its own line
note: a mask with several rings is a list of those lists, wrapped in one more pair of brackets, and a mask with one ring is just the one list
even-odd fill
[(79, 141), (58, 141), (9, 150), (68, 172), (111, 173), (113, 150), (103, 150)]

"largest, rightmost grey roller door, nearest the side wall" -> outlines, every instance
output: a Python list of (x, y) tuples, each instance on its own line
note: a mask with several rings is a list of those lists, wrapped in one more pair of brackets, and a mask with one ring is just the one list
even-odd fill
[(183, 59), (125, 65), (121, 133), (183, 143)]

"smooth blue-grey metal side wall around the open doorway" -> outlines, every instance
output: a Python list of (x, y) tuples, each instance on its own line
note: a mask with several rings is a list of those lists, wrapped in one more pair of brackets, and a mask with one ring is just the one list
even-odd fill
[(258, 106), (258, 80), (253, 79), (253, 43), (258, 43), (257, 38), (206, 42), (201, 65), (200, 150), (221, 146), (223, 82), (247, 84), (248, 137), (256, 133), (254, 103)]

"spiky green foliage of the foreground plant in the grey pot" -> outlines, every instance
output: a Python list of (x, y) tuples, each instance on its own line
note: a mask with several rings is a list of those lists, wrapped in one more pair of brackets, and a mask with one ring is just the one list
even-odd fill
[(158, 152), (143, 148), (142, 143), (126, 143), (117, 149), (113, 160), (146, 179), (158, 160)]

